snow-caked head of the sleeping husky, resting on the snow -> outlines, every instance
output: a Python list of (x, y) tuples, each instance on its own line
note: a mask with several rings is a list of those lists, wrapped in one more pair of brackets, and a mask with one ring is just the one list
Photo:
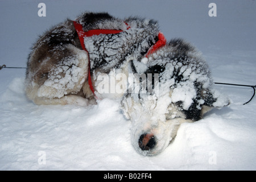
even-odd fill
[(148, 59), (129, 63), (122, 109), (133, 123), (133, 146), (143, 155), (162, 152), (181, 123), (197, 121), (212, 107), (228, 104), (228, 98), (212, 89), (208, 65), (182, 40), (172, 40)]

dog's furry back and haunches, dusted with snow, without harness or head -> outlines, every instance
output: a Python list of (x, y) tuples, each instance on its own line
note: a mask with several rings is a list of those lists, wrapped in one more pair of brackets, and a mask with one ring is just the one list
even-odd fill
[[(93, 78), (96, 69), (108, 73), (112, 68), (122, 68), (128, 59), (142, 57), (156, 42), (159, 31), (154, 20), (134, 17), (121, 20), (107, 13), (83, 13), (76, 21), (84, 31), (123, 30), (119, 34), (85, 38)], [(72, 20), (51, 28), (40, 36), (28, 57), (28, 98), (36, 104), (76, 104), (79, 100), (76, 96), (93, 98), (87, 82), (88, 61)]]

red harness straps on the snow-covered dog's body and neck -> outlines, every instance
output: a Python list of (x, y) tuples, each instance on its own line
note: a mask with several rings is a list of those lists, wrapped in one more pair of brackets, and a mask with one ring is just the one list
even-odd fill
[[(82, 30), (82, 25), (81, 24), (77, 23), (76, 21), (73, 21), (73, 23), (74, 23), (76, 32), (79, 35), (79, 40), (80, 40), (82, 49), (84, 49), (84, 51), (86, 51), (88, 53), (88, 59), (89, 59), (89, 61), (88, 61), (88, 84), (89, 84), (90, 90), (92, 90), (94, 96), (96, 96), (95, 93), (94, 93), (93, 85), (92, 85), (92, 78), (90, 77), (90, 57), (89, 57), (89, 52), (85, 48), (84, 38), (85, 38), (85, 36), (89, 37), (89, 36), (100, 35), (100, 34), (118, 34), (118, 33), (122, 32), (122, 30), (108, 30), (108, 29), (101, 30), (101, 29), (95, 29), (95, 30), (89, 30), (89, 31), (85, 32), (84, 30)], [(125, 24), (127, 26), (127, 30), (129, 30), (131, 27), (127, 23), (125, 23)], [(166, 38), (164, 38), (164, 35), (162, 34), (162, 32), (159, 32), (159, 34), (158, 34), (158, 42), (156, 42), (154, 44), (154, 46), (152, 46), (148, 50), (148, 52), (147, 52), (145, 57), (148, 57), (149, 55), (154, 53), (157, 49), (159, 49), (160, 47), (163, 47), (165, 45), (166, 45)]]

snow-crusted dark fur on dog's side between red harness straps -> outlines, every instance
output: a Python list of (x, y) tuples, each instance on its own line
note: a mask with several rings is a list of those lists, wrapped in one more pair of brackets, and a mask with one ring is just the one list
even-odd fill
[[(105, 27), (113, 28), (113, 23), (105, 22)], [(158, 24), (150, 20), (129, 18), (117, 22), (115, 30), (125, 26), (125, 30), (119, 34), (101, 34), (84, 39), (85, 47), (90, 53), (90, 68), (118, 68), (127, 61), (128, 57), (142, 57), (148, 49), (156, 42)], [(127, 30), (127, 24), (130, 28)]]

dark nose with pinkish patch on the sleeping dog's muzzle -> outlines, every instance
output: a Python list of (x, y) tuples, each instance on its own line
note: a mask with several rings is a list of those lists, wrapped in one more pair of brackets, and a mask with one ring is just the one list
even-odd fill
[(142, 134), (139, 137), (139, 147), (141, 150), (150, 150), (155, 147), (155, 137), (153, 134)]

